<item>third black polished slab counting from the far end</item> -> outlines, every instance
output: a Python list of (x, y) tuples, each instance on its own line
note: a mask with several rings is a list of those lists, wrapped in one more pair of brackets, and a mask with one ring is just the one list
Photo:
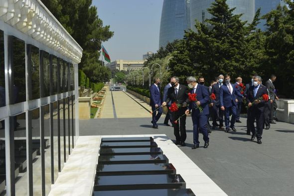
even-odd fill
[(100, 149), (100, 155), (160, 155), (160, 148), (106, 148)]

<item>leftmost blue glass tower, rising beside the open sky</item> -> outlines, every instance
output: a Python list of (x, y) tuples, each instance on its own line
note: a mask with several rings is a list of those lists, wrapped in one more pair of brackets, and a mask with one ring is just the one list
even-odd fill
[(159, 47), (182, 39), (184, 30), (190, 28), (190, 0), (163, 0)]

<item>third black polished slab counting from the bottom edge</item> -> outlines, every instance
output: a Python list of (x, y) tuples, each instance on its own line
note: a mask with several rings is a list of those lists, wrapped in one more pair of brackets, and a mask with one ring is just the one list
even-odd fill
[(172, 164), (120, 164), (97, 166), (98, 176), (176, 174)]

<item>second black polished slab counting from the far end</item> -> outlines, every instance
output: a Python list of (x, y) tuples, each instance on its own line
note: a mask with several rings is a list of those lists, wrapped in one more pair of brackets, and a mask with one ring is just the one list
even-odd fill
[(155, 142), (106, 142), (100, 148), (150, 148), (157, 147)]

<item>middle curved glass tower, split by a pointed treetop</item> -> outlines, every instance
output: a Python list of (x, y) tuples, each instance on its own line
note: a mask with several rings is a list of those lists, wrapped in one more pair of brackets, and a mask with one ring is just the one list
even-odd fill
[[(211, 18), (211, 14), (208, 13), (207, 9), (211, 7), (211, 3), (214, 0), (190, 0), (190, 20), (191, 29), (195, 29), (195, 20), (204, 22), (205, 19)], [(242, 20), (252, 22), (255, 14), (254, 0), (227, 0), (230, 8), (236, 7), (234, 10), (235, 14), (243, 13), (241, 16)]]

